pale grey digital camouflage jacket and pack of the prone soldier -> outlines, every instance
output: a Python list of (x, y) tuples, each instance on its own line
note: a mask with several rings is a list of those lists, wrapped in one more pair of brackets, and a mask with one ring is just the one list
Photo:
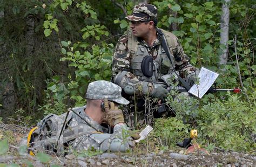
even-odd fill
[[(100, 151), (125, 152), (134, 147), (133, 139), (127, 135), (126, 125), (117, 124), (113, 133), (109, 129), (100, 126), (84, 112), (84, 107), (73, 108), (84, 120), (76, 114), (70, 113), (66, 120), (63, 133), (58, 138), (67, 113), (62, 115), (50, 114), (37, 124), (37, 129), (29, 137), (31, 151), (55, 152), (57, 155), (65, 155), (73, 150), (96, 149)], [(29, 135), (28, 135), (29, 136)], [(24, 137), (20, 145), (28, 142), (28, 136)]]

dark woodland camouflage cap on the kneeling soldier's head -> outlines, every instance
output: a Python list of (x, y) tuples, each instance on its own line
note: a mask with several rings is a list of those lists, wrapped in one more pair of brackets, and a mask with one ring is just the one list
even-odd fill
[(134, 6), (132, 15), (125, 17), (131, 21), (154, 20), (157, 18), (157, 7), (151, 4), (139, 4)]

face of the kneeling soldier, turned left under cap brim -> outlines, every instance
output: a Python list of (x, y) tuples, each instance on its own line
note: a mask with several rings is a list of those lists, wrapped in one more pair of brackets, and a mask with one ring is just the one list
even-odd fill
[(145, 37), (149, 32), (149, 22), (133, 22), (131, 21), (130, 27), (132, 29), (132, 34), (135, 37)]

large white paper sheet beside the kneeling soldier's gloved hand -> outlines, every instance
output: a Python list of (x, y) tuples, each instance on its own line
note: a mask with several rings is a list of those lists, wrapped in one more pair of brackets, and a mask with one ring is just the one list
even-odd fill
[(201, 99), (218, 76), (218, 73), (202, 67), (197, 76), (199, 78), (199, 85), (194, 84), (188, 92)]

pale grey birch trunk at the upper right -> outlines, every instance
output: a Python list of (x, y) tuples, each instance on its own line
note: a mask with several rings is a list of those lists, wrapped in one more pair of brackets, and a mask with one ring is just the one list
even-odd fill
[[(221, 15), (221, 32), (220, 32), (220, 44), (225, 45), (223, 49), (223, 53), (219, 55), (219, 67), (221, 65), (227, 64), (227, 57), (228, 57), (228, 30), (229, 30), (229, 24), (230, 24), (230, 9), (229, 9), (230, 0), (225, 0), (222, 11), (223, 14)], [(220, 67), (221, 68), (221, 67)], [(225, 68), (221, 68), (225, 71)]]

